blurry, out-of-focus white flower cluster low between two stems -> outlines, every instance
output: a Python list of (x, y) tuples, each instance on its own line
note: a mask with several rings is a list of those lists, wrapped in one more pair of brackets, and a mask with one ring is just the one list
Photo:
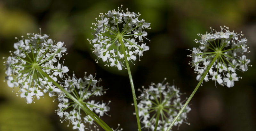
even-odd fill
[[(158, 84), (152, 83), (148, 89), (143, 86), (143, 90), (139, 89), (141, 91), (139, 96), (141, 100), (138, 104), (139, 116), (144, 127), (150, 130), (165, 131), (183, 106), (179, 89), (168, 83), (163, 84), (164, 81)], [(174, 126), (187, 123), (187, 113), (190, 110), (191, 108), (187, 106)]]

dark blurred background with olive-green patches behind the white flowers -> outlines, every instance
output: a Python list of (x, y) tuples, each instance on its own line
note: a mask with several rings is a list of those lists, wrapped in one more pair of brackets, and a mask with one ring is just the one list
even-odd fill
[[(27, 33), (50, 34), (52, 40), (64, 41), (68, 55), (64, 56), (64, 65), (69, 68), (69, 76), (74, 72), (83, 77), (84, 72), (102, 78), (107, 94), (96, 101), (111, 100), (111, 117), (102, 119), (113, 128), (119, 123), (125, 131), (136, 131), (137, 123), (134, 107), (131, 105), (132, 91), (127, 71), (105, 67), (101, 60), (97, 64), (92, 54), (92, 45), (86, 40), (92, 39), (90, 27), (99, 13), (117, 9), (138, 13), (145, 22), (151, 23), (145, 40), (149, 51), (144, 52), (141, 61), (131, 66), (135, 90), (148, 87), (151, 82), (175, 83), (183, 92), (182, 99), (189, 97), (198, 83), (194, 69), (188, 65), (193, 47), (199, 45), (194, 39), (197, 33), (210, 32), (209, 27), (220, 31), (220, 26), (228, 26), (230, 31), (240, 33), (248, 39), (247, 59), (253, 66), (247, 72), (237, 71), (242, 76), (235, 86), (228, 88), (210, 80), (204, 82), (190, 101), (191, 111), (188, 123), (183, 123), (183, 131), (254, 131), (256, 130), (256, 1), (255, 0), (2, 0), (0, 1), (0, 56), (7, 57), (13, 49), (14, 37), (21, 39)], [(0, 63), (4, 60), (1, 59)], [(72, 125), (60, 123), (55, 113), (57, 102), (47, 95), (35, 104), (26, 104), (16, 97), (18, 88), (12, 88), (3, 82), (5, 67), (0, 64), (0, 130), (1, 131), (69, 131)], [(186, 92), (186, 93), (185, 93)], [(137, 96), (140, 94), (136, 92)], [(143, 126), (143, 125), (142, 125)], [(88, 127), (89, 128), (89, 127)], [(177, 130), (174, 127), (173, 130)]]

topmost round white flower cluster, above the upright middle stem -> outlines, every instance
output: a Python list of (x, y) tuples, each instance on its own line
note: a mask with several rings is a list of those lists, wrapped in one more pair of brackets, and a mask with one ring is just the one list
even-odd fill
[[(143, 52), (149, 50), (143, 39), (148, 34), (145, 29), (149, 29), (150, 23), (144, 22), (144, 19), (139, 20), (139, 13), (126, 10), (124, 12), (118, 8), (117, 11), (114, 9), (105, 14), (100, 13), (100, 20), (96, 18), (97, 23), (92, 23), (97, 26), (96, 29), (92, 28), (94, 38), (88, 39), (93, 44), (92, 53), (98, 56), (98, 60), (108, 62), (106, 65), (117, 67), (118, 70), (122, 70), (124, 66), (124, 56), (132, 62), (137, 59), (137, 55), (140, 59)], [(125, 48), (125, 54), (120, 51), (121, 46)]]

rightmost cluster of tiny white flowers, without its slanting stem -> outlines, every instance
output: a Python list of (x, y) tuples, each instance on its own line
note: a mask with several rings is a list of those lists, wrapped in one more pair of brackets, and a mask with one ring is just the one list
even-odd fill
[(215, 84), (218, 82), (220, 85), (233, 87), (234, 81), (242, 78), (237, 76), (236, 70), (247, 71), (247, 66), (250, 63), (250, 60), (246, 59), (246, 55), (244, 55), (249, 48), (246, 45), (247, 39), (241, 38), (243, 34), (229, 31), (226, 26), (220, 26), (220, 32), (210, 29), (211, 33), (198, 34), (201, 39), (195, 41), (200, 43), (200, 46), (193, 48), (192, 54), (189, 55), (192, 57), (192, 62), (189, 64), (195, 67), (194, 70), (198, 74), (196, 79), (199, 81), (212, 59), (218, 55), (204, 80), (212, 79)]

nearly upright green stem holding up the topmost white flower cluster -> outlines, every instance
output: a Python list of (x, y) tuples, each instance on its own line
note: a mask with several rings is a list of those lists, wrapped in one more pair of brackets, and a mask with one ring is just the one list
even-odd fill
[(134, 103), (134, 107), (135, 107), (137, 124), (138, 124), (139, 131), (141, 131), (140, 117), (139, 117), (139, 111), (138, 111), (138, 106), (137, 106), (137, 99), (136, 99), (135, 89), (134, 89), (133, 80), (132, 80), (132, 73), (131, 73), (131, 69), (130, 69), (130, 66), (129, 66), (129, 63), (128, 63), (128, 60), (127, 60), (127, 56), (126, 56), (126, 52), (125, 52), (125, 45), (124, 45), (124, 42), (122, 40), (122, 36), (118, 36), (118, 39), (121, 43), (121, 47), (122, 47), (122, 50), (123, 50), (123, 53), (124, 53), (124, 60), (125, 60), (126, 68), (127, 68), (129, 79), (130, 79), (131, 88), (132, 88), (132, 97), (133, 97), (133, 103)]

